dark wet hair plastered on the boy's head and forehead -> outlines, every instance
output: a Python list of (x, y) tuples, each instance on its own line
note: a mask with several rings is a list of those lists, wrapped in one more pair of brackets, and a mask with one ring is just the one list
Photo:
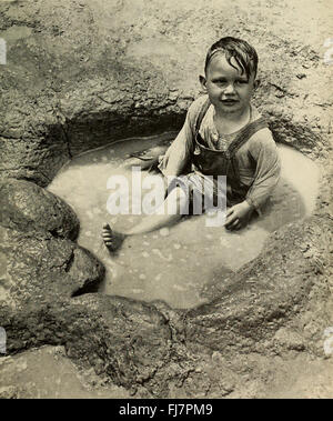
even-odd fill
[(246, 41), (233, 37), (221, 38), (219, 41), (212, 44), (205, 57), (205, 73), (213, 56), (215, 56), (218, 52), (224, 52), (226, 61), (233, 68), (235, 68), (235, 66), (231, 63), (231, 59), (234, 58), (238, 66), (242, 69), (242, 74), (245, 72), (248, 79), (250, 78), (251, 73), (254, 73), (254, 77), (256, 76), (256, 51)]

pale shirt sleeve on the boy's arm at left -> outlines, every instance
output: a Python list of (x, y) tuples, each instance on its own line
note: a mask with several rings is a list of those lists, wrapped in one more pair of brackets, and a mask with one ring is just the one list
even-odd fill
[(159, 169), (164, 176), (180, 176), (189, 163), (194, 144), (195, 119), (204, 100), (201, 97), (190, 106), (181, 131), (161, 157)]

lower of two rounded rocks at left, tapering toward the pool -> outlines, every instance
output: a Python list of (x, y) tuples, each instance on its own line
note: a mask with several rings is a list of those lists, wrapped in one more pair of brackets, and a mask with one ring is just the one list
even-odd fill
[(0, 303), (14, 309), (57, 302), (97, 288), (103, 278), (102, 264), (70, 240), (47, 232), (0, 230), (4, 239), (0, 251), (7, 262)]

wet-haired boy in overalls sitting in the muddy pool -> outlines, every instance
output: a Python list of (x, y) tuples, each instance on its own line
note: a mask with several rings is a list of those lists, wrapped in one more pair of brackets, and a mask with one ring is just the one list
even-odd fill
[[(239, 230), (253, 211), (261, 213), (281, 168), (272, 133), (251, 104), (259, 86), (256, 70), (258, 54), (241, 39), (225, 37), (209, 49), (204, 76), (200, 76), (206, 94), (191, 104), (182, 130), (159, 166), (169, 180), (169, 194), (162, 204), (169, 212), (145, 217), (123, 233), (105, 224), (102, 237), (110, 250), (117, 250), (128, 235), (178, 221), (189, 200), (203, 191), (203, 184), (205, 194), (215, 200), (221, 190), (215, 179), (205, 176), (226, 176), (226, 229)], [(181, 174), (185, 176), (179, 182)]]

